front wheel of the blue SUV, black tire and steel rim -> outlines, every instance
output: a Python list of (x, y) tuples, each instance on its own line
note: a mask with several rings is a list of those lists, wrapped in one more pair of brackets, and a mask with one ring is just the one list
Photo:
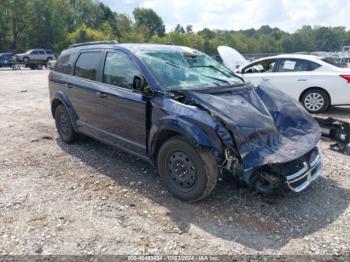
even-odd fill
[(209, 150), (195, 148), (183, 137), (166, 141), (158, 152), (158, 172), (176, 198), (196, 202), (207, 197), (218, 180), (218, 167)]

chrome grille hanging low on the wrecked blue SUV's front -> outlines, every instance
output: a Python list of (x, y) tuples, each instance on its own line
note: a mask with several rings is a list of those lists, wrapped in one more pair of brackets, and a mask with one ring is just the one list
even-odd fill
[(309, 158), (304, 158), (300, 170), (285, 176), (289, 189), (294, 192), (304, 190), (312, 181), (321, 175), (322, 169), (321, 153), (320, 150), (316, 148)]

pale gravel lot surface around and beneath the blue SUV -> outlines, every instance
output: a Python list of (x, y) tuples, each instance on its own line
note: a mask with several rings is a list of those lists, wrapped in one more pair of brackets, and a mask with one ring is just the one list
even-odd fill
[[(320, 147), (308, 190), (266, 198), (220, 181), (197, 204), (91, 139), (58, 139), (48, 71), (0, 71), (1, 254), (350, 254), (350, 157)], [(350, 119), (350, 108), (332, 109)]]

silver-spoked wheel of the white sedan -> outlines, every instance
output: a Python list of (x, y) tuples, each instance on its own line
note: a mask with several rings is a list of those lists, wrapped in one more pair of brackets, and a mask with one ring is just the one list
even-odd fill
[(321, 89), (311, 89), (301, 97), (301, 103), (310, 113), (318, 114), (326, 111), (330, 106), (328, 94)]

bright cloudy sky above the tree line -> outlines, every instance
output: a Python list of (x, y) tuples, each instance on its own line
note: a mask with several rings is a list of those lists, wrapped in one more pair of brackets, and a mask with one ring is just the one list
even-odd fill
[(192, 24), (194, 30), (248, 29), (268, 24), (288, 32), (302, 25), (350, 28), (349, 0), (101, 0), (112, 10), (132, 14), (148, 7), (162, 18), (167, 30)]

